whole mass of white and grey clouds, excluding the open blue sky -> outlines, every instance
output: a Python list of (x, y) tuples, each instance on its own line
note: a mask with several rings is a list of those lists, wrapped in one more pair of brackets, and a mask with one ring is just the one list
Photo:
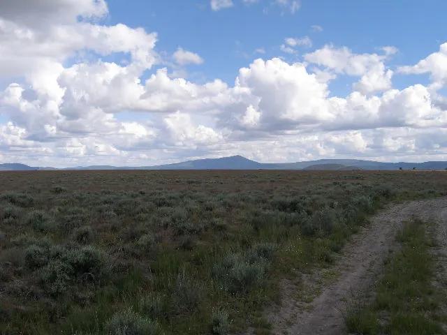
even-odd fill
[[(398, 69), (430, 73), (430, 87), (393, 88), (387, 62), (395, 47), (356, 54), (332, 45), (296, 63), (256, 59), (235, 71), (234, 84), (197, 83), (170, 74), (200, 64), (198, 54), (179, 48), (175, 64), (163, 59), (155, 33), (105, 24), (104, 1), (31, 2), (0, 3), (2, 161), (150, 165), (235, 153), (261, 161), (447, 159), (447, 99), (436, 91), (446, 83), (445, 44)], [(294, 53), (309, 44), (284, 41)], [(346, 96), (330, 91), (340, 75), (353, 77)]]

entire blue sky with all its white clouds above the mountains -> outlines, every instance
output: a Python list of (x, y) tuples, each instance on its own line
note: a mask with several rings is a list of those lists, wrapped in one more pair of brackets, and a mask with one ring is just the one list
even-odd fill
[(0, 163), (447, 161), (447, 2), (0, 1)]

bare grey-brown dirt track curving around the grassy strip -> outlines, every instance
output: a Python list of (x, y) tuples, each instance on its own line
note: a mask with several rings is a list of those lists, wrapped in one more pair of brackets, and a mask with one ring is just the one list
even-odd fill
[[(346, 305), (352, 299), (362, 297), (374, 284), (381, 271), (383, 261), (395, 245), (395, 234), (412, 216), (437, 222), (439, 253), (447, 255), (447, 198), (420, 200), (394, 204), (372, 217), (371, 224), (353, 237), (342, 250), (341, 256), (332, 267), (337, 278), (318, 288), (319, 294), (306, 304), (295, 299), (297, 290), (316, 290), (320, 270), (303, 275), (300, 288), (288, 282), (283, 285), (281, 306), (271, 308), (268, 319), (272, 323), (272, 334), (344, 334)], [(444, 258), (443, 271), (446, 271)]]

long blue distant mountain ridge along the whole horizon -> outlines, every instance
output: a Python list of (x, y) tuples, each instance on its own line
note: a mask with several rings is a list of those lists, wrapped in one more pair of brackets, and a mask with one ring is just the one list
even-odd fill
[(296, 163), (258, 163), (242, 156), (205, 158), (173, 164), (153, 166), (112, 166), (91, 165), (75, 168), (41, 168), (20, 163), (0, 164), (0, 171), (36, 171), (36, 170), (446, 170), (447, 161), (424, 163), (384, 163), (362, 161), (358, 159), (319, 159)]

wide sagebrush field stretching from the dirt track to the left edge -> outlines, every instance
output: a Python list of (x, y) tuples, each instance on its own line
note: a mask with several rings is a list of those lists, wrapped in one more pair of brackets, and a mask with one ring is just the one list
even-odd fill
[(269, 334), (284, 280), (441, 195), (446, 172), (1, 172), (0, 334)]

